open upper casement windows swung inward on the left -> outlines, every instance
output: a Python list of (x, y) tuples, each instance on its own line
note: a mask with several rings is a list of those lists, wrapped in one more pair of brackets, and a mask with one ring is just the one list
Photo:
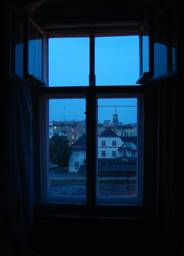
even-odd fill
[(22, 13), (14, 5), (9, 5), (9, 11), (11, 47), (8, 76), (23, 78), (33, 85), (47, 86), (48, 65), (45, 63), (48, 51), (44, 31), (29, 14)]

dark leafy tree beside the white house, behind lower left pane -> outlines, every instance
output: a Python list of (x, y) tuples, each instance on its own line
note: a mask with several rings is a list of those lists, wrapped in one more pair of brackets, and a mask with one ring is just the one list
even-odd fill
[(68, 161), (71, 155), (71, 149), (68, 143), (68, 140), (58, 134), (54, 134), (49, 139), (49, 161), (52, 164), (57, 164), (61, 169), (68, 167)]

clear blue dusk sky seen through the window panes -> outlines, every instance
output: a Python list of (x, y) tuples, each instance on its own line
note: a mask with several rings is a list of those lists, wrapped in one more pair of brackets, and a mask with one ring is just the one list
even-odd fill
[[(139, 78), (139, 37), (95, 39), (96, 86), (136, 85)], [(89, 85), (89, 38), (49, 39), (49, 87)], [(114, 105), (118, 120), (137, 122), (137, 99), (99, 99), (98, 122), (112, 121)], [(65, 105), (65, 109), (64, 109)], [(111, 106), (111, 107), (106, 107)], [(131, 107), (130, 107), (131, 106)], [(85, 119), (85, 99), (49, 100), (49, 121)]]

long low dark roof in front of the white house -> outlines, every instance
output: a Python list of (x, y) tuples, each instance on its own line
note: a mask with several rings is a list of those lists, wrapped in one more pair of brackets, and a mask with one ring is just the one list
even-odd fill
[[(136, 164), (119, 164), (119, 165), (109, 165), (109, 164), (98, 164), (98, 171), (130, 171), (135, 172), (137, 171), (137, 165)], [(80, 165), (80, 168), (78, 172), (85, 172), (86, 171), (86, 165)]]

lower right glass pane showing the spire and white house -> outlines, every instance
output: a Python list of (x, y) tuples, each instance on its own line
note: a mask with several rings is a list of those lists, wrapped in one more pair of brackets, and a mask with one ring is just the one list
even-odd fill
[(137, 98), (98, 99), (98, 120), (97, 196), (136, 197)]

